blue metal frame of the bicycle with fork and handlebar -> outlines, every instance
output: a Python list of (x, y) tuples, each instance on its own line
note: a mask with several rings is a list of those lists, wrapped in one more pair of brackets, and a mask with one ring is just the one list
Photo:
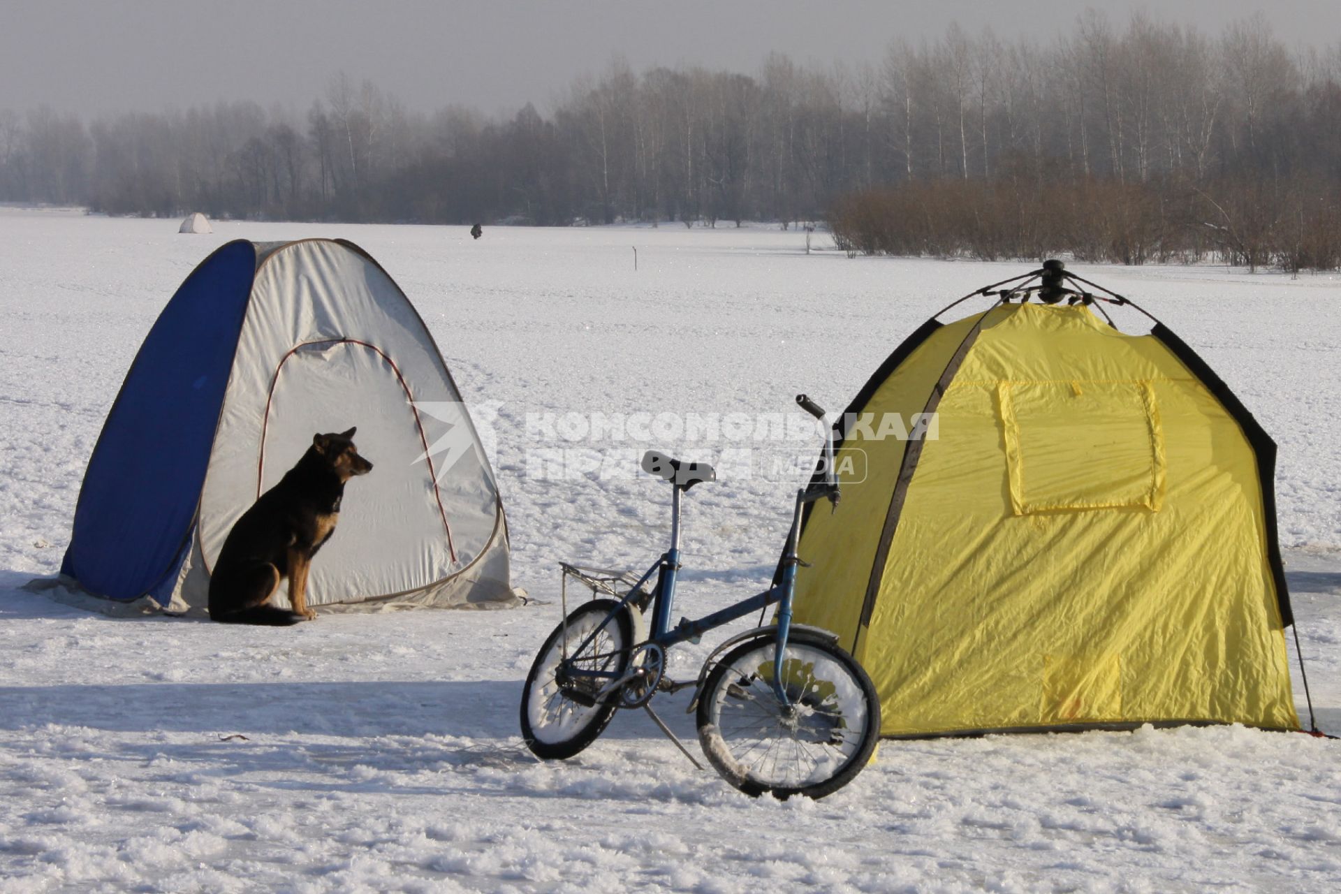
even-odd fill
[[(797, 398), (798, 403), (806, 407), (817, 418), (823, 418), (823, 410), (819, 410), (814, 403), (802, 394)], [(817, 411), (818, 410), (818, 411)], [(786, 688), (782, 685), (782, 669), (786, 659), (787, 651), (787, 637), (791, 633), (791, 600), (795, 595), (797, 588), (797, 566), (805, 564), (797, 555), (797, 543), (801, 537), (801, 519), (805, 512), (805, 507), (817, 500), (829, 499), (834, 505), (838, 503), (838, 484), (834, 477), (834, 462), (833, 462), (833, 429), (826, 429), (825, 433), (825, 480), (823, 483), (810, 483), (807, 487), (797, 492), (797, 501), (791, 515), (791, 529), (787, 532), (787, 547), (782, 556), (782, 579), (779, 583), (764, 590), (763, 592), (755, 594), (754, 596), (731, 604), (720, 611), (715, 611), (709, 615), (704, 615), (699, 619), (681, 619), (675, 627), (670, 626), (670, 613), (675, 607), (675, 592), (676, 583), (680, 576), (680, 495), (681, 489), (679, 487), (672, 488), (672, 503), (670, 503), (670, 548), (661, 554), (661, 558), (650, 568), (644, 572), (629, 592), (620, 600), (620, 604), (610, 611), (609, 615), (597, 626), (595, 630), (577, 647), (577, 653), (582, 653), (597, 635), (605, 629), (610, 619), (620, 611), (622, 611), (633, 599), (634, 594), (642, 590), (642, 586), (652, 579), (652, 575), (660, 572), (657, 579), (657, 586), (653, 590), (652, 602), (652, 625), (648, 634), (646, 643), (654, 643), (661, 649), (670, 649), (681, 642), (697, 641), (708, 630), (721, 627), (723, 625), (731, 623), (739, 618), (744, 618), (748, 614), (760, 611), (767, 606), (780, 604), (778, 610), (778, 623), (776, 623), (776, 645), (774, 649), (774, 670), (772, 670), (772, 692), (778, 698), (778, 702), (783, 709), (791, 706), (791, 701), (787, 698)], [(565, 635), (565, 639), (567, 637)], [(644, 645), (644, 643), (634, 643)], [(567, 670), (574, 677), (591, 677), (591, 678), (607, 678), (611, 682), (602, 688), (598, 697), (605, 697), (610, 690), (626, 682), (632, 678), (632, 674), (625, 677), (618, 677), (614, 672), (607, 670), (585, 670), (570, 667)]]

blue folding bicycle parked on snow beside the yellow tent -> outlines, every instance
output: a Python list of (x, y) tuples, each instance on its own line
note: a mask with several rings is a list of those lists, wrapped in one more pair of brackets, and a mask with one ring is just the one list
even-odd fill
[[(818, 420), (825, 411), (805, 394), (797, 403)], [(563, 563), (563, 621), (540, 646), (522, 692), (522, 737), (542, 759), (573, 757), (590, 745), (620, 708), (645, 708), (661, 730), (693, 756), (652, 712), (658, 692), (693, 686), (689, 712), (712, 767), (740, 791), (823, 797), (848, 784), (870, 760), (880, 737), (876, 689), (835, 634), (791, 623), (802, 512), (827, 499), (838, 505), (833, 429), (826, 426), (823, 474), (797, 492), (779, 579), (768, 590), (697, 621), (670, 625), (680, 572), (680, 497), (716, 480), (705, 462), (681, 462), (656, 450), (642, 469), (673, 485), (670, 548), (636, 580)], [(653, 574), (657, 583), (648, 588)], [(593, 598), (567, 611), (574, 575), (613, 598)], [(632, 586), (629, 586), (632, 584)], [(620, 592), (624, 586), (626, 592)], [(775, 623), (731, 637), (704, 661), (697, 680), (666, 677), (666, 651), (767, 606)], [(650, 607), (650, 629), (644, 613)], [(723, 653), (725, 653), (723, 655)], [(720, 659), (719, 659), (720, 655)]]

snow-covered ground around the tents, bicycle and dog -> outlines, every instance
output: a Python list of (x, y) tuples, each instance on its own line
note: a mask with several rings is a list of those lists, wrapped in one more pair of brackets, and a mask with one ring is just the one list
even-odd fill
[[(803, 235), (764, 228), (487, 228), (477, 243), (465, 228), (176, 229), (0, 209), (0, 893), (1341, 887), (1341, 748), (1302, 735), (885, 743), (818, 803), (740, 796), (641, 714), (569, 763), (522, 747), (555, 562), (645, 566), (662, 548), (666, 488), (614, 473), (646, 446), (740, 446), (570, 444), (563, 414), (754, 417), (798, 391), (837, 409), (928, 314), (1022, 265), (806, 256)], [(264, 630), (110, 619), (19, 591), (59, 567), (102, 420), (181, 279), (229, 239), (314, 235), (367, 248), (467, 398), (502, 402), (515, 582), (548, 604)], [(1080, 272), (1161, 316), (1281, 444), (1299, 634), (1320, 724), (1341, 733), (1341, 279)], [(791, 487), (755, 474), (693, 491), (684, 614), (763, 584)], [(673, 667), (692, 673), (701, 653)], [(684, 700), (658, 705), (697, 748)]]

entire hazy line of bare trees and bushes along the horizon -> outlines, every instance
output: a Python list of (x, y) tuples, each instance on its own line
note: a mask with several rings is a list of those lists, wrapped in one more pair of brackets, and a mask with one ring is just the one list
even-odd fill
[(575, 222), (830, 220), (849, 251), (1341, 264), (1341, 43), (1086, 12), (1049, 40), (952, 25), (874, 62), (575, 79), (552, 110), (0, 111), (0, 200), (113, 214)]

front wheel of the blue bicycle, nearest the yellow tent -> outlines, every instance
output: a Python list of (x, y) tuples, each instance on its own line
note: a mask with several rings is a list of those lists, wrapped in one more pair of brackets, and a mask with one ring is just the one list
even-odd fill
[(880, 739), (870, 677), (826, 641), (787, 642), (782, 685), (772, 690), (772, 637), (746, 642), (708, 674), (699, 697), (699, 740), (712, 765), (747, 795), (823, 797), (861, 772)]

